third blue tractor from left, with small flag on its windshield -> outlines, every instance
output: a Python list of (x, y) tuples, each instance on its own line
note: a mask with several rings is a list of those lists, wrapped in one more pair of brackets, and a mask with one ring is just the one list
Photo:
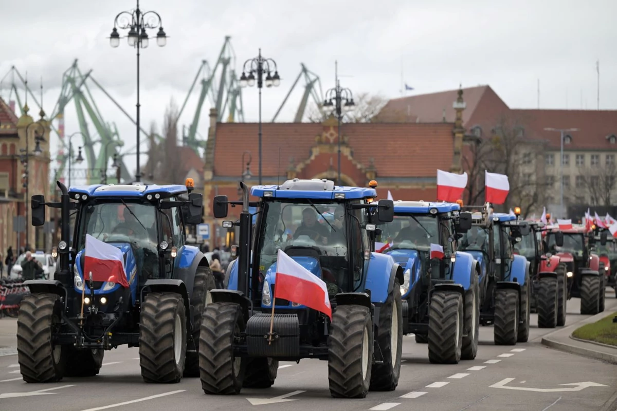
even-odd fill
[[(394, 221), (384, 224), (380, 251), (404, 267), (403, 333), (428, 343), (434, 364), (473, 360), (478, 352), (479, 265), (457, 251), (471, 228), (471, 214), (456, 203), (396, 201)], [(433, 250), (438, 255), (431, 255)]]

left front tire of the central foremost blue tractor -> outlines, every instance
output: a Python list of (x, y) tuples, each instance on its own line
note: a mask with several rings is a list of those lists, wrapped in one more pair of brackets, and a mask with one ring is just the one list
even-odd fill
[(242, 308), (235, 303), (205, 307), (199, 334), (199, 376), (206, 394), (239, 394), (246, 361), (233, 353), (234, 338), (244, 331)]

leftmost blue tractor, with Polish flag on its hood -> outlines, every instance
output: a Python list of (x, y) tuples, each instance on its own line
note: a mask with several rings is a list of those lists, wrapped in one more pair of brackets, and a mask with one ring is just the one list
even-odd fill
[[(60, 208), (62, 223), (52, 250), (59, 255), (54, 277), (25, 282), (30, 295), (17, 324), (23, 380), (96, 375), (104, 351), (122, 344), (139, 347), (146, 382), (199, 376), (199, 325), (214, 279), (204, 254), (184, 244), (184, 226), (202, 219), (203, 199), (191, 192), (192, 179), (186, 185), (57, 185), (59, 202), (31, 199), (33, 226), (44, 224), (46, 206)], [(86, 238), (94, 244), (88, 258), (101, 263), (89, 262), (85, 273)], [(123, 262), (103, 243), (119, 249)], [(106, 255), (93, 256), (102, 249)], [(114, 282), (101, 264), (118, 262), (122, 277)]]

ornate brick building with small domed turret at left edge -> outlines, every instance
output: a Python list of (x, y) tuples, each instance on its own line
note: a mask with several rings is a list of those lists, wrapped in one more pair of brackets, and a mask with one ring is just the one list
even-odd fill
[[(41, 126), (33, 125), (33, 118), (28, 115), (28, 106), (24, 107), (25, 114), (17, 117), (9, 105), (0, 99), (0, 254), (6, 257), (6, 250), (13, 247), (17, 257), (17, 249), (26, 246), (26, 233), (15, 231), (14, 217), (26, 216), (26, 207), (30, 207), (30, 199), (26, 201), (26, 179), (23, 178), (25, 167), (22, 159), (28, 161), (28, 196), (44, 194), (49, 196), (49, 121), (44, 119), (43, 110), (38, 122)], [(26, 135), (28, 132), (28, 135)], [(36, 136), (43, 133), (39, 142), (41, 152), (35, 154)], [(28, 139), (28, 140), (27, 140)], [(25, 150), (28, 149), (26, 157)], [(30, 213), (25, 226), (28, 230), (30, 246), (37, 250), (47, 248), (43, 227), (33, 227), (30, 224)], [(46, 214), (49, 221), (49, 213)], [(18, 241), (19, 237), (19, 241)]]

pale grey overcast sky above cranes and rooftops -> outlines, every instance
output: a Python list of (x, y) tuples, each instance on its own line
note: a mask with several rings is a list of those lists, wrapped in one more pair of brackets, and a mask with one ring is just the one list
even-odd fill
[[(134, 9), (135, 1), (0, 4), (0, 78), (12, 66), (22, 75), (28, 71), (28, 86), (38, 96), (43, 76), (49, 114), (62, 73), (78, 59), (81, 71), (93, 70), (94, 78), (135, 116), (135, 50), (126, 39), (112, 49), (108, 39), (115, 15)], [(263, 90), (263, 121), (270, 121), (280, 106), (300, 63), (320, 76), (325, 92), (334, 86), (334, 60), (342, 86), (355, 93), (400, 97), (402, 75), (404, 83), (414, 87), (408, 96), (453, 89), (459, 83), (489, 84), (510, 107), (536, 108), (539, 79), (540, 108), (595, 109), (599, 59), (600, 108), (617, 109), (615, 0), (142, 0), (140, 6), (158, 12), (170, 36), (167, 46), (151, 41), (142, 51), (144, 128), (152, 121), (160, 128), (172, 97), (183, 102), (201, 60), (213, 65), (226, 35), (231, 36), (237, 71), (259, 47), (278, 64), (281, 86)], [(10, 78), (5, 79), (0, 90), (5, 99), (9, 83)], [(304, 84), (299, 86), (279, 121), (292, 121), (304, 90)], [(92, 87), (104, 120), (117, 124), (130, 149), (135, 145), (134, 126)], [(196, 89), (180, 124), (191, 123), (198, 94)], [(243, 89), (242, 99), (245, 120), (257, 121), (257, 89)], [(200, 121), (202, 136), (207, 136), (208, 108), (209, 102)], [(74, 105), (68, 106), (65, 118), (66, 134), (78, 131)], [(81, 144), (78, 138), (73, 144)], [(127, 158), (130, 167), (134, 158)]]

